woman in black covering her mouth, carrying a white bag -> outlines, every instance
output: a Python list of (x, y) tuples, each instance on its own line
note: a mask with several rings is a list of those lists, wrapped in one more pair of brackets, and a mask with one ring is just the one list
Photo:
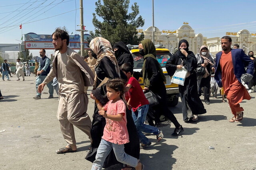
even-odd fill
[[(173, 76), (177, 69), (182, 69), (182, 66), (188, 70), (187, 78), (184, 86), (179, 85), (179, 91), (182, 102), (182, 113), (184, 121), (196, 121), (197, 115), (206, 113), (204, 105), (198, 96), (196, 73), (197, 60), (192, 51), (188, 51), (188, 41), (180, 40), (178, 51), (174, 54), (173, 59), (166, 62), (166, 70), (169, 76)], [(183, 62), (183, 65), (181, 65)], [(192, 115), (191, 115), (192, 112)]]

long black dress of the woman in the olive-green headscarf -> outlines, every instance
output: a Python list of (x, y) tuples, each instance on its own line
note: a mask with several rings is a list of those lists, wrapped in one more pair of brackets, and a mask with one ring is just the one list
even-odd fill
[[(170, 119), (170, 121), (172, 121), (175, 127), (179, 127), (180, 124), (178, 123), (176, 117), (167, 107), (166, 88), (164, 85), (164, 80), (162, 79), (162, 77), (160, 76), (160, 72), (158, 71), (158, 64), (159, 63), (152, 57), (146, 58), (145, 67), (148, 78), (150, 80), (150, 86), (148, 88), (153, 93), (158, 94), (161, 97), (159, 104), (152, 108), (155, 116), (154, 121), (156, 122), (156, 124), (160, 123), (160, 116), (164, 115), (165, 117)], [(142, 77), (142, 72), (134, 72), (134, 77)]]

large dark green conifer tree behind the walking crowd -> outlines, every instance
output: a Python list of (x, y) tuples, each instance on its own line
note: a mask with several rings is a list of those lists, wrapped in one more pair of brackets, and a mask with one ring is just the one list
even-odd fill
[(144, 34), (137, 36), (137, 28), (144, 25), (144, 20), (139, 14), (139, 6), (135, 2), (128, 13), (130, 0), (101, 0), (95, 2), (96, 14), (102, 18), (99, 21), (93, 13), (92, 23), (95, 32), (90, 31), (92, 37), (104, 37), (113, 45), (117, 41), (126, 44), (138, 44), (144, 39)]

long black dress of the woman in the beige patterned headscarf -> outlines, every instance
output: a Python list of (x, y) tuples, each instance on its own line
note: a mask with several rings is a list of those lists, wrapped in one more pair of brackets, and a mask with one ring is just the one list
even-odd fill
[[(119, 78), (114, 64), (108, 59), (108, 57), (104, 57), (100, 64), (95, 68), (96, 74), (100, 80), (104, 80), (105, 77), (108, 78)], [(97, 80), (96, 86), (100, 84), (100, 80)], [(90, 131), (92, 136), (92, 149), (88, 152), (85, 159), (89, 160), (90, 162), (93, 162), (95, 160), (95, 156), (97, 153), (97, 149), (100, 145), (100, 141), (103, 136), (103, 130), (106, 125), (106, 119), (98, 114), (98, 107), (96, 106), (96, 103), (94, 105), (94, 114), (92, 116), (92, 129)], [(138, 158), (140, 156), (140, 144), (139, 144), (139, 138), (137, 134), (137, 129), (134, 125), (134, 121), (132, 119), (132, 115), (126, 114), (127, 119), (127, 129), (129, 133), (129, 143), (126, 143), (124, 145), (124, 150), (127, 154)], [(119, 162), (116, 160), (116, 156), (113, 152), (113, 150), (110, 152), (108, 157), (106, 158), (103, 168), (108, 168), (109, 166), (112, 166), (114, 164), (118, 164)]]

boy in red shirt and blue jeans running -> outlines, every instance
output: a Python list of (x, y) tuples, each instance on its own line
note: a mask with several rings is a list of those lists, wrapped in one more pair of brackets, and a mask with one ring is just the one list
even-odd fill
[(132, 118), (136, 125), (139, 139), (140, 139), (140, 149), (144, 149), (146, 146), (151, 145), (151, 141), (142, 133), (153, 133), (156, 135), (156, 139), (159, 142), (163, 139), (164, 135), (157, 127), (144, 124), (146, 115), (148, 113), (149, 103), (146, 99), (140, 83), (136, 78), (132, 77), (133, 68), (130, 63), (124, 63), (120, 66), (120, 69), (127, 76), (127, 85), (124, 88), (124, 92), (130, 94), (130, 99), (128, 100), (128, 106), (132, 108)]

